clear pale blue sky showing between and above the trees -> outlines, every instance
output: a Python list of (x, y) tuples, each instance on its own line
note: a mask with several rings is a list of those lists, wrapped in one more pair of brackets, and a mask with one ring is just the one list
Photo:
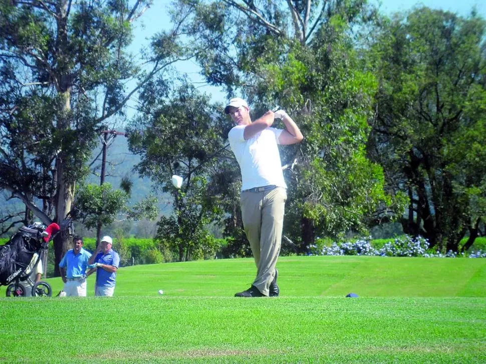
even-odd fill
[[(432, 9), (442, 9), (458, 13), (461, 16), (468, 16), (473, 7), (476, 8), (478, 14), (486, 18), (486, 1), (477, 0), (428, 0), (417, 2), (414, 0), (371, 0), (372, 3), (381, 4), (380, 9), (382, 13), (390, 15), (395, 12), (403, 12), (412, 9), (416, 6), (426, 6)], [(155, 0), (154, 5), (148, 9), (137, 23), (135, 31), (135, 38), (132, 46), (132, 52), (137, 54), (142, 45), (147, 45), (147, 39), (153, 34), (170, 27), (169, 18), (166, 15), (166, 8), (171, 2), (169, 0)], [(217, 88), (205, 85), (202, 78), (198, 75), (198, 66), (191, 61), (179, 63), (177, 68), (181, 72), (186, 72), (193, 80), (195, 85), (199, 87), (201, 92), (206, 92), (212, 95), (213, 101), (225, 101), (226, 95), (220, 92)]]

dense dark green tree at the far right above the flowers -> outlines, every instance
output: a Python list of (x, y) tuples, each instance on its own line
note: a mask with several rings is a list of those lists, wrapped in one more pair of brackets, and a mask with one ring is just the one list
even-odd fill
[[(467, 249), (486, 218), (486, 22), (477, 14), (397, 14), (373, 47), (380, 88), (370, 151), (409, 196), (406, 233)], [(484, 232), (483, 232), (484, 233)]]

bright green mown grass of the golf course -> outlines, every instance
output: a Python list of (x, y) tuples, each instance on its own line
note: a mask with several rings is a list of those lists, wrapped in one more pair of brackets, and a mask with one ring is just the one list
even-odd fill
[(276, 298), (232, 297), (252, 259), (121, 268), (112, 298), (0, 298), (0, 362), (486, 362), (486, 259), (278, 267)]

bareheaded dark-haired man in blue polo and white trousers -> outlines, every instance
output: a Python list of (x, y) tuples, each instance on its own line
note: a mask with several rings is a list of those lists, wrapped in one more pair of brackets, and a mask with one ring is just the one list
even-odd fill
[(68, 250), (59, 263), (66, 296), (86, 297), (86, 268), (89, 266), (91, 253), (83, 249), (83, 239), (75, 236), (73, 249)]

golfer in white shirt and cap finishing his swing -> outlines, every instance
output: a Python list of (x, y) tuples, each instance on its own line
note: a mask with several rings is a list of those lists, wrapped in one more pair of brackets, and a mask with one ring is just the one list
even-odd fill
[[(228, 140), (241, 170), (241, 215), (257, 264), (252, 286), (235, 296), (278, 296), (275, 266), (282, 243), (287, 185), (277, 144), (299, 143), (304, 136), (284, 110), (268, 111), (252, 122), (247, 102), (234, 98), (224, 113), (236, 124)], [(271, 128), (275, 118), (282, 119), (286, 130)]]

